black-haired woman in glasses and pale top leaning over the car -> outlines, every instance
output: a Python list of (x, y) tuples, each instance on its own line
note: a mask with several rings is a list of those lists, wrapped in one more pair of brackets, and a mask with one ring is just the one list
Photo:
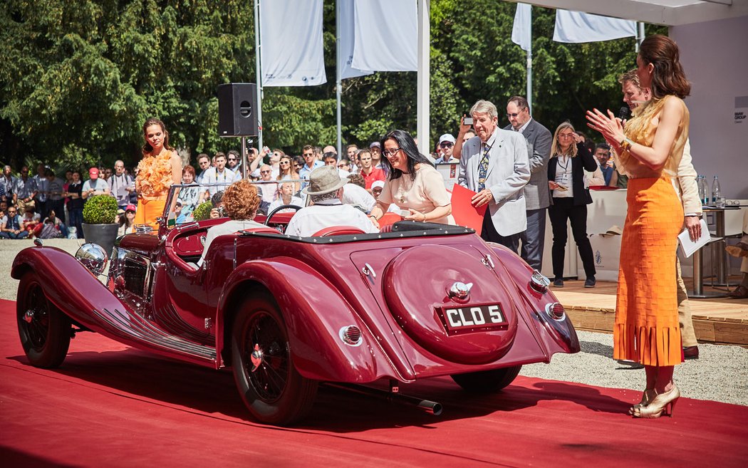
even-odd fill
[(375, 226), (391, 203), (399, 206), (400, 215), (408, 221), (455, 224), (444, 178), (418, 152), (413, 137), (404, 130), (393, 130), (384, 135), (381, 147), (385, 156), (382, 164), (389, 176), (370, 213)]

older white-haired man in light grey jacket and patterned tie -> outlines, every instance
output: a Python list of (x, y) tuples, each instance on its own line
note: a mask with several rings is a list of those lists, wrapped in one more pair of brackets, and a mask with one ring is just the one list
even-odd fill
[(496, 106), (480, 100), (470, 109), (477, 136), (462, 147), (459, 185), (476, 192), (473, 206), (488, 204), (480, 236), (516, 252), (527, 227), (522, 188), (530, 180), (527, 142), (498, 127)]

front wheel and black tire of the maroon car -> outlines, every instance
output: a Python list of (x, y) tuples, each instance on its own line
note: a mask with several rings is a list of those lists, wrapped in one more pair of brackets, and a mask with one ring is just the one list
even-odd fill
[(62, 364), (73, 336), (70, 317), (44, 295), (33, 271), (24, 274), (19, 283), (16, 321), (23, 351), (32, 366), (53, 369)]

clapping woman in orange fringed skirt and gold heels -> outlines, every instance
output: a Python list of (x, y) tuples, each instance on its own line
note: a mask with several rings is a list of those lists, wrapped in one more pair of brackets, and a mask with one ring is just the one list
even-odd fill
[(625, 124), (612, 112), (587, 112), (588, 125), (615, 150), (617, 170), (627, 173), (628, 213), (623, 228), (613, 327), (613, 359), (644, 365), (642, 401), (634, 417), (672, 415), (681, 393), (673, 381), (682, 362), (678, 325), (675, 247), (683, 227), (683, 206), (673, 180), (688, 138), (690, 93), (675, 41), (654, 35), (637, 56), (640, 87), (652, 100), (639, 105)]

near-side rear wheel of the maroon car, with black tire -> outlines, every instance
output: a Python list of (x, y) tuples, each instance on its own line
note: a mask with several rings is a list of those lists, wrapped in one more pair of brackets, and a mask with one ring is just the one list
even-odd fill
[(296, 371), (286, 324), (272, 298), (242, 304), (233, 325), (231, 356), (236, 387), (254, 419), (286, 425), (311, 409), (317, 381)]

